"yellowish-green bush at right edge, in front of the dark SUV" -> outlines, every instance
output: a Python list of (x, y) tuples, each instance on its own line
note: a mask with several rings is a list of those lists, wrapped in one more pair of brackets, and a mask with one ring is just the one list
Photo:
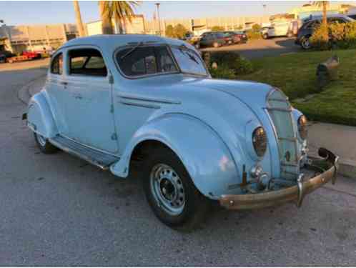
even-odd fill
[[(325, 38), (325, 33), (327, 38)], [(356, 22), (347, 24), (332, 23), (317, 28), (310, 38), (315, 49), (355, 49), (356, 48)]]

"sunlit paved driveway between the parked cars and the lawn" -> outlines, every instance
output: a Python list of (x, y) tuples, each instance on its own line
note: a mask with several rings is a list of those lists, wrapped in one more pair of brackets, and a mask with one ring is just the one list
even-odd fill
[(236, 51), (247, 59), (257, 59), (264, 56), (279, 56), (281, 54), (301, 51), (300, 46), (295, 45), (294, 38), (279, 37), (273, 39), (249, 40), (247, 44), (235, 44), (222, 46), (217, 49), (205, 48), (201, 51)]

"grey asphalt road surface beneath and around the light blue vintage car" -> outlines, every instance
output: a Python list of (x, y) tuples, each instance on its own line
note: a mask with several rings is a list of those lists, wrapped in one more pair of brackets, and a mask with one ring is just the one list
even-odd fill
[(176, 232), (154, 217), (139, 179), (39, 152), (17, 94), (44, 72), (0, 70), (0, 264), (356, 265), (355, 179), (339, 177), (301, 209), (217, 210), (202, 229)]

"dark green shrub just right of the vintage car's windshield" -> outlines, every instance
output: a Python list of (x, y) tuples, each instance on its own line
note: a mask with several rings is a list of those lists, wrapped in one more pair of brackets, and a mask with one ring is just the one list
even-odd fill
[(253, 71), (251, 61), (244, 59), (244, 57), (234, 52), (216, 52), (210, 56), (210, 63), (212, 64), (213, 62), (217, 63), (219, 74), (226, 74), (226, 69), (232, 71), (234, 76), (239, 74), (250, 74)]

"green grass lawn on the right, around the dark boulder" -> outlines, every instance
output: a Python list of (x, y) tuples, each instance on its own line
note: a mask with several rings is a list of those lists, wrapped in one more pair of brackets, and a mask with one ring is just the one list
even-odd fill
[[(340, 57), (339, 79), (317, 89), (317, 64), (332, 54)], [(252, 61), (254, 73), (239, 79), (277, 86), (309, 119), (356, 126), (356, 50), (312, 51)], [(299, 98), (315, 94), (307, 101)]]

